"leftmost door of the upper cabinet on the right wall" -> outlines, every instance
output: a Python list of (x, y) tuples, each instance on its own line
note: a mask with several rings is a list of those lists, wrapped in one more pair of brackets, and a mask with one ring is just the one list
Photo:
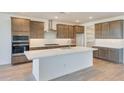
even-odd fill
[(95, 24), (95, 38), (96, 39), (102, 38), (102, 25), (101, 25), (101, 23)]

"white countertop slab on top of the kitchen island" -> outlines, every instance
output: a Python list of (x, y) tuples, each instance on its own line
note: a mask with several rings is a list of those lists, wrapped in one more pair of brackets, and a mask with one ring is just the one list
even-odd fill
[(79, 52), (88, 52), (93, 50), (95, 49), (88, 47), (71, 47), (71, 48), (57, 48), (57, 49), (46, 49), (46, 50), (31, 50), (31, 51), (25, 51), (24, 54), (29, 60), (33, 60), (37, 58), (79, 53)]

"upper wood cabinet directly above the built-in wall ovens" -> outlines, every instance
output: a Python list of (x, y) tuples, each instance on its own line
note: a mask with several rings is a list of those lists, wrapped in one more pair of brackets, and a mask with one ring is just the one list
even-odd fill
[(11, 18), (12, 35), (30, 35), (30, 20), (23, 18)]

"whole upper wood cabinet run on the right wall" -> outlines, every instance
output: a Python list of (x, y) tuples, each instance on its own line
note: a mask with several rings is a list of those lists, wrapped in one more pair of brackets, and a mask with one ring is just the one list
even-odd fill
[(123, 20), (95, 24), (96, 39), (122, 39)]

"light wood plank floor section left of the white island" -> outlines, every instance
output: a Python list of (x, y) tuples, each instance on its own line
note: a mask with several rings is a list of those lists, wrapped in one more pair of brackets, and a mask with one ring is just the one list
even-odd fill
[(0, 81), (24, 81), (30, 77), (32, 63), (0, 66)]

